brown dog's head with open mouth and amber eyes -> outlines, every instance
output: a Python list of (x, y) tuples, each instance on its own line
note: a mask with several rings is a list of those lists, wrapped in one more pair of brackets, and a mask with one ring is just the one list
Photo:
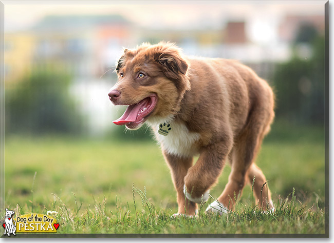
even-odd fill
[(136, 130), (147, 119), (175, 115), (185, 91), (190, 90), (188, 66), (171, 43), (125, 49), (116, 68), (118, 82), (108, 95), (114, 105), (128, 107), (114, 123)]

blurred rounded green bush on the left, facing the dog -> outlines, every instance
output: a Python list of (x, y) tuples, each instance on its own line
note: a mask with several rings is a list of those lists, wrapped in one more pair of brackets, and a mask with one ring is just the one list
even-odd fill
[(6, 89), (5, 127), (9, 133), (79, 133), (81, 116), (69, 94), (70, 76), (34, 70)]

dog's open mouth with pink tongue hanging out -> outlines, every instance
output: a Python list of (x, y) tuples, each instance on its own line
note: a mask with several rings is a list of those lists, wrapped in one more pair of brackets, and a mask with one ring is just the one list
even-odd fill
[(124, 114), (117, 120), (114, 120), (113, 123), (119, 126), (126, 125), (126, 127), (130, 129), (136, 128), (150, 115), (156, 104), (157, 96), (155, 94), (150, 95), (137, 104), (129, 105)]

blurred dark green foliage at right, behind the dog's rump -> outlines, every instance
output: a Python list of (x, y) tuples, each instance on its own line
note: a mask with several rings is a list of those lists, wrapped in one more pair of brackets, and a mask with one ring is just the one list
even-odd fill
[(293, 45), (292, 58), (277, 65), (273, 76), (277, 118), (295, 124), (324, 123), (324, 44), (324, 37), (313, 27), (300, 28)]

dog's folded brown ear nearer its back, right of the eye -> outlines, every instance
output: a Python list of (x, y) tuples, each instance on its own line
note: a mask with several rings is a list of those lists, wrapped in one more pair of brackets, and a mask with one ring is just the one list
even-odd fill
[(169, 78), (178, 79), (180, 74), (186, 74), (188, 63), (180, 56), (178, 48), (171, 46), (158, 56), (158, 62), (165, 69), (165, 75)]

